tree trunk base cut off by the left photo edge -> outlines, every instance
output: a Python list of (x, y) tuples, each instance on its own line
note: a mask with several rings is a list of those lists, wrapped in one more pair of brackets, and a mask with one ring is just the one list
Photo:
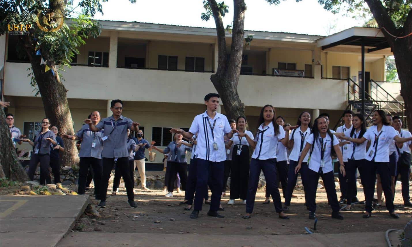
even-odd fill
[(26, 171), (21, 166), (14, 149), (9, 128), (6, 123), (6, 115), (3, 107), (1, 108), (1, 170), (3, 175), (10, 180), (27, 181), (29, 180)]

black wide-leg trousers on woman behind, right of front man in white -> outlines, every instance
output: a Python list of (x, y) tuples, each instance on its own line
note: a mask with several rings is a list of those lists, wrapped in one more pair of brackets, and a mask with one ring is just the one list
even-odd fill
[[(240, 155), (237, 155), (239, 145), (233, 147), (232, 163), (230, 165), (230, 199), (246, 200), (249, 180), (249, 147), (242, 145)], [(226, 165), (225, 165), (226, 169)], [(226, 181), (227, 182), (227, 181)], [(223, 184), (225, 186), (225, 184)]]

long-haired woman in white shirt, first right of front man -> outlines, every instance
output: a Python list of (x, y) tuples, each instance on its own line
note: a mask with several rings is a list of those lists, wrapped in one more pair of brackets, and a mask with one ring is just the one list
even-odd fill
[(248, 194), (246, 196), (246, 214), (243, 219), (250, 219), (255, 205), (256, 190), (260, 172), (266, 179), (266, 188), (272, 195), (273, 204), (280, 219), (289, 219), (282, 210), (282, 201), (279, 194), (278, 182), (276, 178), (276, 148), (282, 142), (284, 146), (289, 141), (289, 130), (293, 127), (286, 127), (286, 131), (275, 121), (276, 112), (272, 105), (265, 105), (260, 110), (258, 124), (256, 126), (255, 139), (251, 139), (246, 133), (239, 133), (239, 137), (246, 137), (250, 147), (255, 148), (250, 161), (250, 172), (248, 182)]

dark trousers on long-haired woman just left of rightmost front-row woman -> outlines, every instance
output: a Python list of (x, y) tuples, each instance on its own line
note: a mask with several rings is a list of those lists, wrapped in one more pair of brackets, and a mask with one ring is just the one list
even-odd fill
[(348, 181), (348, 193), (346, 197), (346, 204), (348, 205), (352, 203), (352, 200), (356, 197), (356, 194), (358, 193), (358, 189), (356, 188), (356, 168), (358, 168), (359, 173), (361, 174), (361, 181), (363, 181), (363, 177), (365, 174), (365, 163), (367, 162), (368, 161), (366, 161), (365, 159), (348, 160), (348, 162), (345, 162), (345, 172)]

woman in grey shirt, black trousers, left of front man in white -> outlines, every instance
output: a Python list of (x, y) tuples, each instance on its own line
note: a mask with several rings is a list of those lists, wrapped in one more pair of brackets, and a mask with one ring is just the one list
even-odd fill
[[(165, 149), (160, 149), (155, 145), (151, 146), (153, 149), (161, 152), (162, 154), (169, 154), (167, 156), (167, 166), (165, 181), (167, 180), (168, 193), (166, 197), (173, 196), (173, 189), (175, 186), (176, 173), (179, 173), (179, 177), (182, 182), (182, 189), (186, 190), (186, 180), (187, 180), (187, 161), (186, 161), (186, 151), (192, 151), (192, 144), (183, 140), (183, 135), (181, 133), (175, 133), (173, 135), (173, 142), (170, 142)], [(167, 177), (167, 178), (166, 178)]]

